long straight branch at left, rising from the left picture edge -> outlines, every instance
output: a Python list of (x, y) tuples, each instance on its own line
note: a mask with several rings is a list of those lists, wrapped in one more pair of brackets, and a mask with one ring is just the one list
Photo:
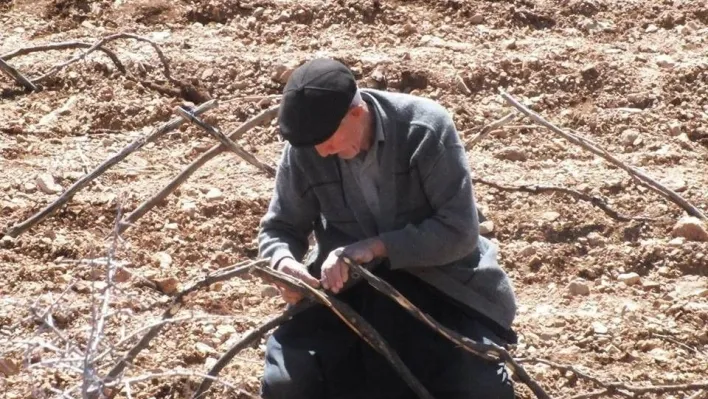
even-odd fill
[[(196, 108), (194, 110), (194, 113), (195, 114), (202, 114), (210, 109), (213, 109), (214, 107), (216, 107), (216, 101), (213, 101), (213, 102), (209, 101), (204, 104), (201, 104), (198, 108)], [(138, 138), (137, 140), (133, 141), (127, 147), (123, 148), (123, 150), (121, 150), (119, 153), (117, 153), (116, 155), (103, 161), (103, 163), (101, 165), (99, 165), (96, 169), (94, 169), (91, 173), (89, 173), (89, 174), (85, 175), (84, 177), (82, 177), (81, 179), (77, 180), (74, 184), (71, 185), (71, 187), (69, 187), (66, 191), (64, 191), (61, 194), (61, 196), (59, 196), (59, 198), (54, 200), (51, 204), (47, 205), (44, 209), (42, 209), (41, 211), (32, 215), (27, 220), (12, 226), (5, 234), (7, 234), (10, 237), (16, 238), (20, 234), (29, 230), (32, 226), (41, 222), (47, 216), (53, 214), (60, 206), (67, 203), (79, 190), (86, 187), (86, 185), (88, 185), (88, 183), (90, 183), (92, 180), (96, 179), (98, 176), (103, 174), (106, 170), (108, 170), (109, 168), (111, 168), (112, 166), (117, 164), (118, 162), (125, 159), (131, 153), (139, 150), (145, 144), (157, 140), (162, 135), (164, 135), (165, 133), (167, 133), (171, 130), (177, 129), (184, 122), (185, 122), (185, 119), (183, 119), (181, 117), (172, 119), (169, 122), (167, 122), (166, 124), (155, 129), (149, 135), (142, 136), (142, 137)], [(119, 233), (122, 233), (122, 232), (123, 232), (123, 229), (121, 229), (119, 231)]]

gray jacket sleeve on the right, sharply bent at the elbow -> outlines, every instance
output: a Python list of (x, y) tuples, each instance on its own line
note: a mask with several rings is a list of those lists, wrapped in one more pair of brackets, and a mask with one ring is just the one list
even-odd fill
[(427, 132), (413, 159), (433, 214), (380, 235), (392, 269), (445, 265), (472, 253), (479, 240), (470, 169), (452, 119), (418, 128)]

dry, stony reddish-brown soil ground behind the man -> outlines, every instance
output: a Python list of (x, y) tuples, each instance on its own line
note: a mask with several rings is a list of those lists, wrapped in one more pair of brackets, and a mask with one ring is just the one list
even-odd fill
[[(63, 41), (93, 43), (119, 31), (150, 38), (176, 79), (221, 101), (206, 119), (227, 132), (277, 101), (242, 97), (277, 95), (287, 71), (317, 55), (346, 61), (364, 86), (440, 101), (465, 140), (510, 112), (501, 87), (708, 213), (703, 0), (0, 0), (0, 27), (0, 54)], [(47, 194), (58, 190), (51, 182), (38, 187), (40, 175), (66, 189), (172, 118), (176, 105), (196, 101), (184, 90), (159, 88), (174, 85), (148, 44), (124, 39), (107, 47), (132, 79), (98, 52), (59, 71), (39, 93), (24, 93), (0, 75), (2, 231), (58, 196)], [(33, 53), (10, 63), (36, 77), (76, 51)], [(566, 194), (477, 184), (476, 196), (494, 225), (488, 236), (501, 246), (518, 295), (521, 340), (514, 356), (575, 365), (605, 382), (705, 383), (708, 243), (676, 239), (672, 229), (682, 209), (621, 169), (529, 125), (514, 122), (471, 148), (475, 177), (509, 186), (567, 187), (602, 196), (621, 214), (653, 220), (621, 222)], [(239, 142), (277, 163), (282, 143), (274, 123)], [(213, 143), (184, 125), (111, 168), (14, 242), (5, 241), (3, 398), (50, 397), (79, 382), (80, 361), (57, 362), (65, 345), (32, 317), (30, 307), (42, 313), (55, 303), (48, 314), (56, 330), (83, 348), (91, 292), (105, 285), (100, 267), (76, 261), (106, 256), (118, 205), (133, 210)], [(207, 195), (213, 189), (222, 195)], [(184, 286), (255, 258), (258, 222), (271, 189), (272, 179), (222, 154), (127, 230), (116, 259), (132, 277), (123, 276), (113, 290), (99, 350), (158, 319), (170, 297), (146, 280)], [(620, 281), (632, 272), (639, 282)], [(189, 317), (166, 328), (126, 377), (206, 372), (245, 332), (283, 310), (274, 294), (250, 278), (193, 295), (180, 313)], [(109, 353), (99, 374), (135, 342), (127, 339)], [(242, 391), (216, 384), (211, 397), (257, 394), (263, 342), (221, 373)], [(526, 367), (554, 398), (599, 389), (571, 372), (539, 363)], [(147, 378), (130, 392), (134, 398), (189, 397), (199, 381)], [(520, 397), (532, 397), (516, 386)], [(127, 391), (119, 397), (128, 397)], [(708, 390), (644, 397), (708, 398)]]

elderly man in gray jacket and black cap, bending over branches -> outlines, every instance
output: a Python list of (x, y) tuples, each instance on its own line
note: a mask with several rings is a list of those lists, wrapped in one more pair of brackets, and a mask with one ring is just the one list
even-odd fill
[[(372, 266), (443, 325), (482, 342), (515, 342), (514, 292), (496, 247), (479, 235), (465, 150), (446, 110), (425, 98), (358, 89), (345, 65), (314, 59), (290, 76), (278, 122), (287, 143), (261, 222), (261, 256), (352, 306), (434, 397), (513, 398), (502, 365), (455, 346), (366, 283), (342, 290), (350, 277), (338, 250)], [(289, 304), (302, 299), (282, 294)], [(415, 394), (383, 356), (315, 306), (268, 339), (262, 396)]]

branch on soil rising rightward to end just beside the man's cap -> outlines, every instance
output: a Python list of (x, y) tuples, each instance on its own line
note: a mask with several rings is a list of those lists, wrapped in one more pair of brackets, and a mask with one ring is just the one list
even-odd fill
[[(278, 108), (279, 106), (271, 107), (256, 115), (255, 117), (249, 119), (244, 124), (239, 126), (233, 133), (229, 134), (229, 138), (231, 140), (238, 140), (239, 137), (241, 137), (244, 133), (254, 128), (255, 126), (270, 121), (277, 115)], [(182, 118), (180, 118), (180, 120), (182, 120)], [(194, 160), (191, 164), (189, 164), (189, 166), (182, 170), (182, 172), (180, 172), (177, 177), (175, 177), (171, 182), (169, 182), (167, 186), (160, 190), (160, 192), (144, 201), (133, 212), (128, 214), (125, 217), (125, 220), (121, 223), (121, 231), (125, 231), (126, 229), (128, 229), (132, 223), (135, 223), (136, 220), (140, 219), (150, 209), (152, 209), (155, 205), (167, 198), (167, 196), (170, 195), (173, 191), (175, 191), (177, 187), (179, 187), (182, 183), (189, 179), (189, 177), (194, 172), (196, 172), (197, 169), (202, 167), (205, 163), (209, 162), (209, 160), (211, 160), (212, 158), (226, 151), (226, 149), (227, 148), (225, 145), (218, 144), (212, 147), (209, 151), (202, 154), (202, 156)]]

